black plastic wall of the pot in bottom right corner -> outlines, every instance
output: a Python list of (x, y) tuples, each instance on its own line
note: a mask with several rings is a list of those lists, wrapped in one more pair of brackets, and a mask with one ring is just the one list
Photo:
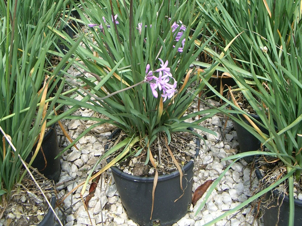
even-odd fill
[[(259, 169), (256, 169), (255, 174), (259, 180), (262, 180), (262, 175)], [(273, 197), (273, 202), (271, 202)], [(265, 197), (262, 199), (267, 205), (267, 201), (270, 200), (268, 206), (264, 209), (263, 221), (265, 226), (278, 225), (278, 226), (288, 226), (289, 217), (289, 197), (284, 196), (283, 193), (279, 193), (277, 190), (273, 192), (267, 192)], [(294, 199), (294, 226), (302, 225), (302, 200)], [(279, 220), (278, 220), (279, 218)]]

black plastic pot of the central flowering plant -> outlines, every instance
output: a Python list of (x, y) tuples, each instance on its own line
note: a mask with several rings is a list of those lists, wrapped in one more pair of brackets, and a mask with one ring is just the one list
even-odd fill
[[(200, 146), (198, 139), (196, 140), (196, 146), (197, 156)], [(183, 193), (179, 183), (179, 172), (174, 171), (171, 174), (158, 177), (151, 220), (154, 177), (132, 176), (116, 167), (111, 167), (120, 199), (128, 217), (139, 225), (152, 226), (154, 221), (160, 221), (160, 225), (172, 225), (185, 216), (192, 199), (193, 166), (194, 160), (192, 159), (183, 167), (182, 186), (185, 193), (176, 202), (174, 200), (178, 199)]]

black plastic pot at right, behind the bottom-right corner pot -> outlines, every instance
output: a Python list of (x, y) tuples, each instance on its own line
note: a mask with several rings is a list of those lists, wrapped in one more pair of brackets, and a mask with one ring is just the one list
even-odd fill
[[(233, 114), (234, 116), (237, 117), (236, 114)], [(254, 119), (256, 119), (257, 121), (261, 122), (261, 119), (258, 115), (255, 114), (249, 114), (250, 116), (252, 116)], [(246, 118), (244, 118), (242, 115), (240, 115), (240, 117), (243, 119), (243, 121), (247, 124), (247, 125), (251, 125)], [(250, 133), (248, 130), (246, 130), (245, 127), (241, 126), (240, 124), (238, 124), (237, 122), (234, 122), (234, 127), (237, 133), (237, 138), (238, 138), (238, 143), (239, 143), (239, 152), (243, 153), (243, 152), (249, 152), (249, 151), (256, 151), (260, 148), (261, 142), (254, 136), (252, 135), (252, 133)], [(265, 133), (268, 134), (268, 131), (266, 129), (264, 129), (263, 127), (259, 127), (260, 130)], [(247, 156), (244, 157), (244, 160), (246, 162), (252, 162), (254, 160), (254, 156)]]

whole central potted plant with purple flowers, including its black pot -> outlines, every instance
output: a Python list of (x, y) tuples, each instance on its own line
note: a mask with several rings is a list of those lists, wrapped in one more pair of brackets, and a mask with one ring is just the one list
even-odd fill
[[(111, 161), (92, 177), (94, 169), (91, 171), (81, 194), (85, 192), (89, 180), (98, 177), (124, 157), (139, 159), (143, 156), (143, 165), (149, 163), (148, 167), (154, 169), (154, 175), (140, 179), (143, 182), (138, 181), (138, 176), (128, 175), (126, 179), (140, 189), (127, 190), (128, 187), (123, 185), (118, 187), (118, 177), (124, 177), (127, 173), (112, 167), (112, 171), (119, 171), (114, 173), (114, 178), (122, 203), (128, 216), (139, 224), (152, 225), (156, 220), (160, 220), (161, 225), (172, 224), (185, 215), (192, 194), (192, 163), (184, 165), (183, 168), (188, 168), (189, 171), (183, 173), (174, 159), (179, 150), (174, 154), (169, 153), (177, 140), (174, 139), (175, 134), (188, 132), (200, 137), (188, 127), (214, 134), (199, 123), (213, 115), (216, 109), (186, 113), (204, 87), (203, 81), (208, 80), (217, 67), (217, 64), (210, 65), (205, 73), (204, 70), (190, 69), (191, 63), (209, 41), (205, 40), (200, 46), (195, 46), (194, 39), (201, 32), (204, 23), (196, 22), (195, 2), (131, 0), (118, 5), (114, 1), (88, 0), (81, 1), (81, 5), (83, 11), (79, 11), (79, 14), (83, 23), (90, 28), (83, 39), (85, 46), (79, 46), (76, 51), (85, 67), (80, 62), (75, 63), (91, 76), (74, 77), (78, 83), (68, 80), (72, 86), (79, 87), (79, 94), (83, 97), (81, 101), (63, 98), (71, 105), (93, 109), (107, 118), (86, 118), (97, 123), (85, 130), (66, 149), (92, 128), (104, 123), (114, 124), (122, 131), (118, 134), (122, 139), (100, 157), (95, 167), (108, 156), (111, 156)], [(193, 26), (195, 30), (189, 36)], [(74, 41), (67, 39), (66, 45), (68, 43), (72, 46)], [(198, 119), (198, 115), (205, 113), (210, 115)], [(192, 117), (194, 121), (190, 120)], [(81, 118), (85, 120), (84, 117)], [(183, 136), (185, 135), (184, 133)], [(174, 162), (175, 172), (168, 176), (177, 183), (172, 186), (177, 191), (172, 196), (171, 187), (161, 185), (167, 175), (158, 174), (157, 159), (160, 158), (160, 153), (155, 153), (155, 143), (167, 153), (170, 163)], [(126, 190), (126, 196), (122, 196), (123, 190)], [(137, 205), (133, 201), (127, 204), (126, 199), (134, 196), (140, 197), (136, 199), (140, 200), (140, 205), (139, 209), (133, 210), (131, 207), (137, 208)], [(169, 199), (159, 202), (165, 196)], [(175, 208), (172, 215), (161, 211), (161, 207), (173, 209), (176, 206), (180, 210), (176, 212)]]

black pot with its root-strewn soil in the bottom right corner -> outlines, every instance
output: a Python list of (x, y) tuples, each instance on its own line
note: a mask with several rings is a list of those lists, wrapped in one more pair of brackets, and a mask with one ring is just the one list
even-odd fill
[[(260, 190), (261, 187), (265, 188), (271, 183), (274, 183), (277, 177), (286, 174), (286, 167), (278, 164), (280, 161), (273, 164), (261, 164), (263, 162), (264, 161), (257, 161), (257, 169), (255, 171), (255, 174), (260, 181)], [(300, 184), (301, 180), (295, 182), (294, 226), (302, 225), (302, 200), (298, 199), (298, 197), (302, 197), (302, 190), (299, 188)], [(263, 211), (262, 217), (265, 226), (288, 226), (290, 207), (287, 187), (287, 184), (281, 184), (281, 186), (275, 188), (273, 191), (267, 192), (264, 197), (262, 197), (261, 209)]]

